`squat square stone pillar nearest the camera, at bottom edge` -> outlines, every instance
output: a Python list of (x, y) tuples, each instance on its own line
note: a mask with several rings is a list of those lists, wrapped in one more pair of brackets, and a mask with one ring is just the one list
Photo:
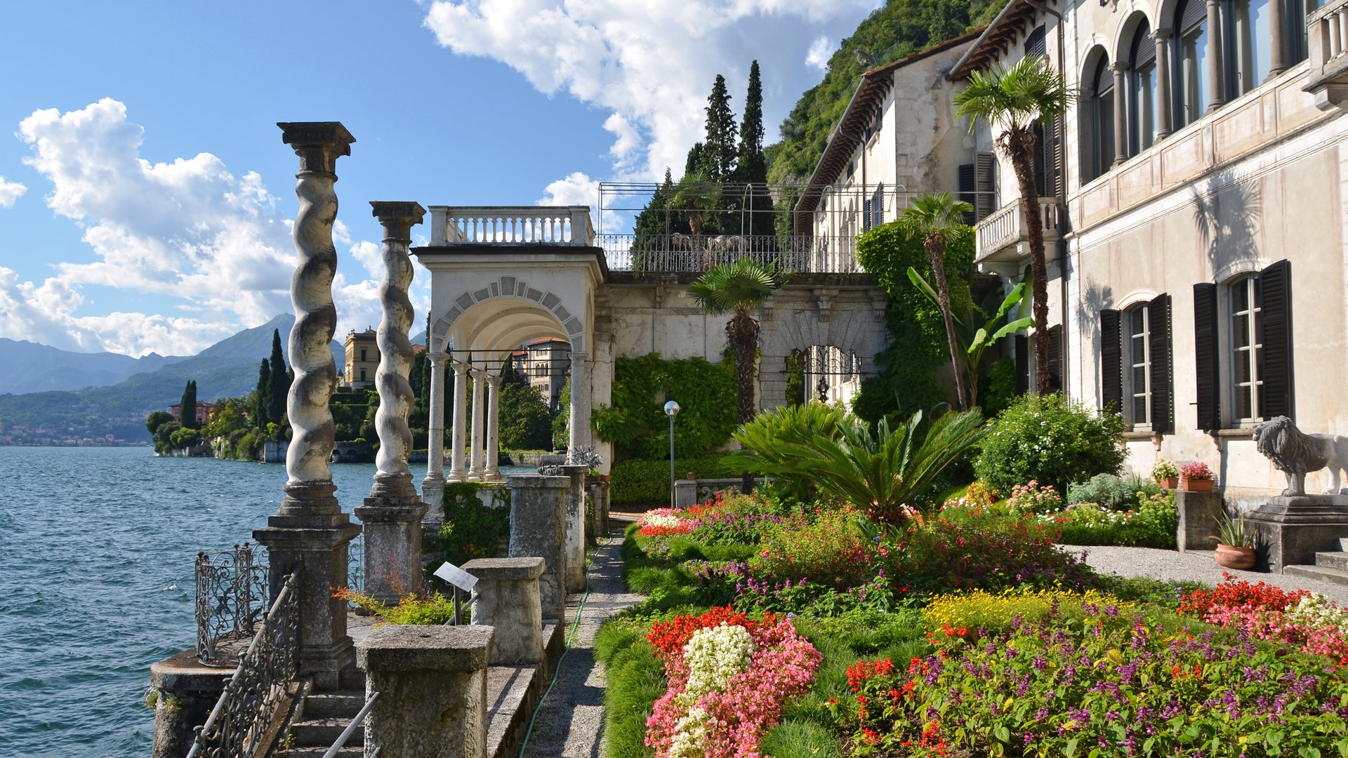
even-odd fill
[(379, 626), (357, 649), (365, 699), (365, 755), (487, 757), (489, 626)]

